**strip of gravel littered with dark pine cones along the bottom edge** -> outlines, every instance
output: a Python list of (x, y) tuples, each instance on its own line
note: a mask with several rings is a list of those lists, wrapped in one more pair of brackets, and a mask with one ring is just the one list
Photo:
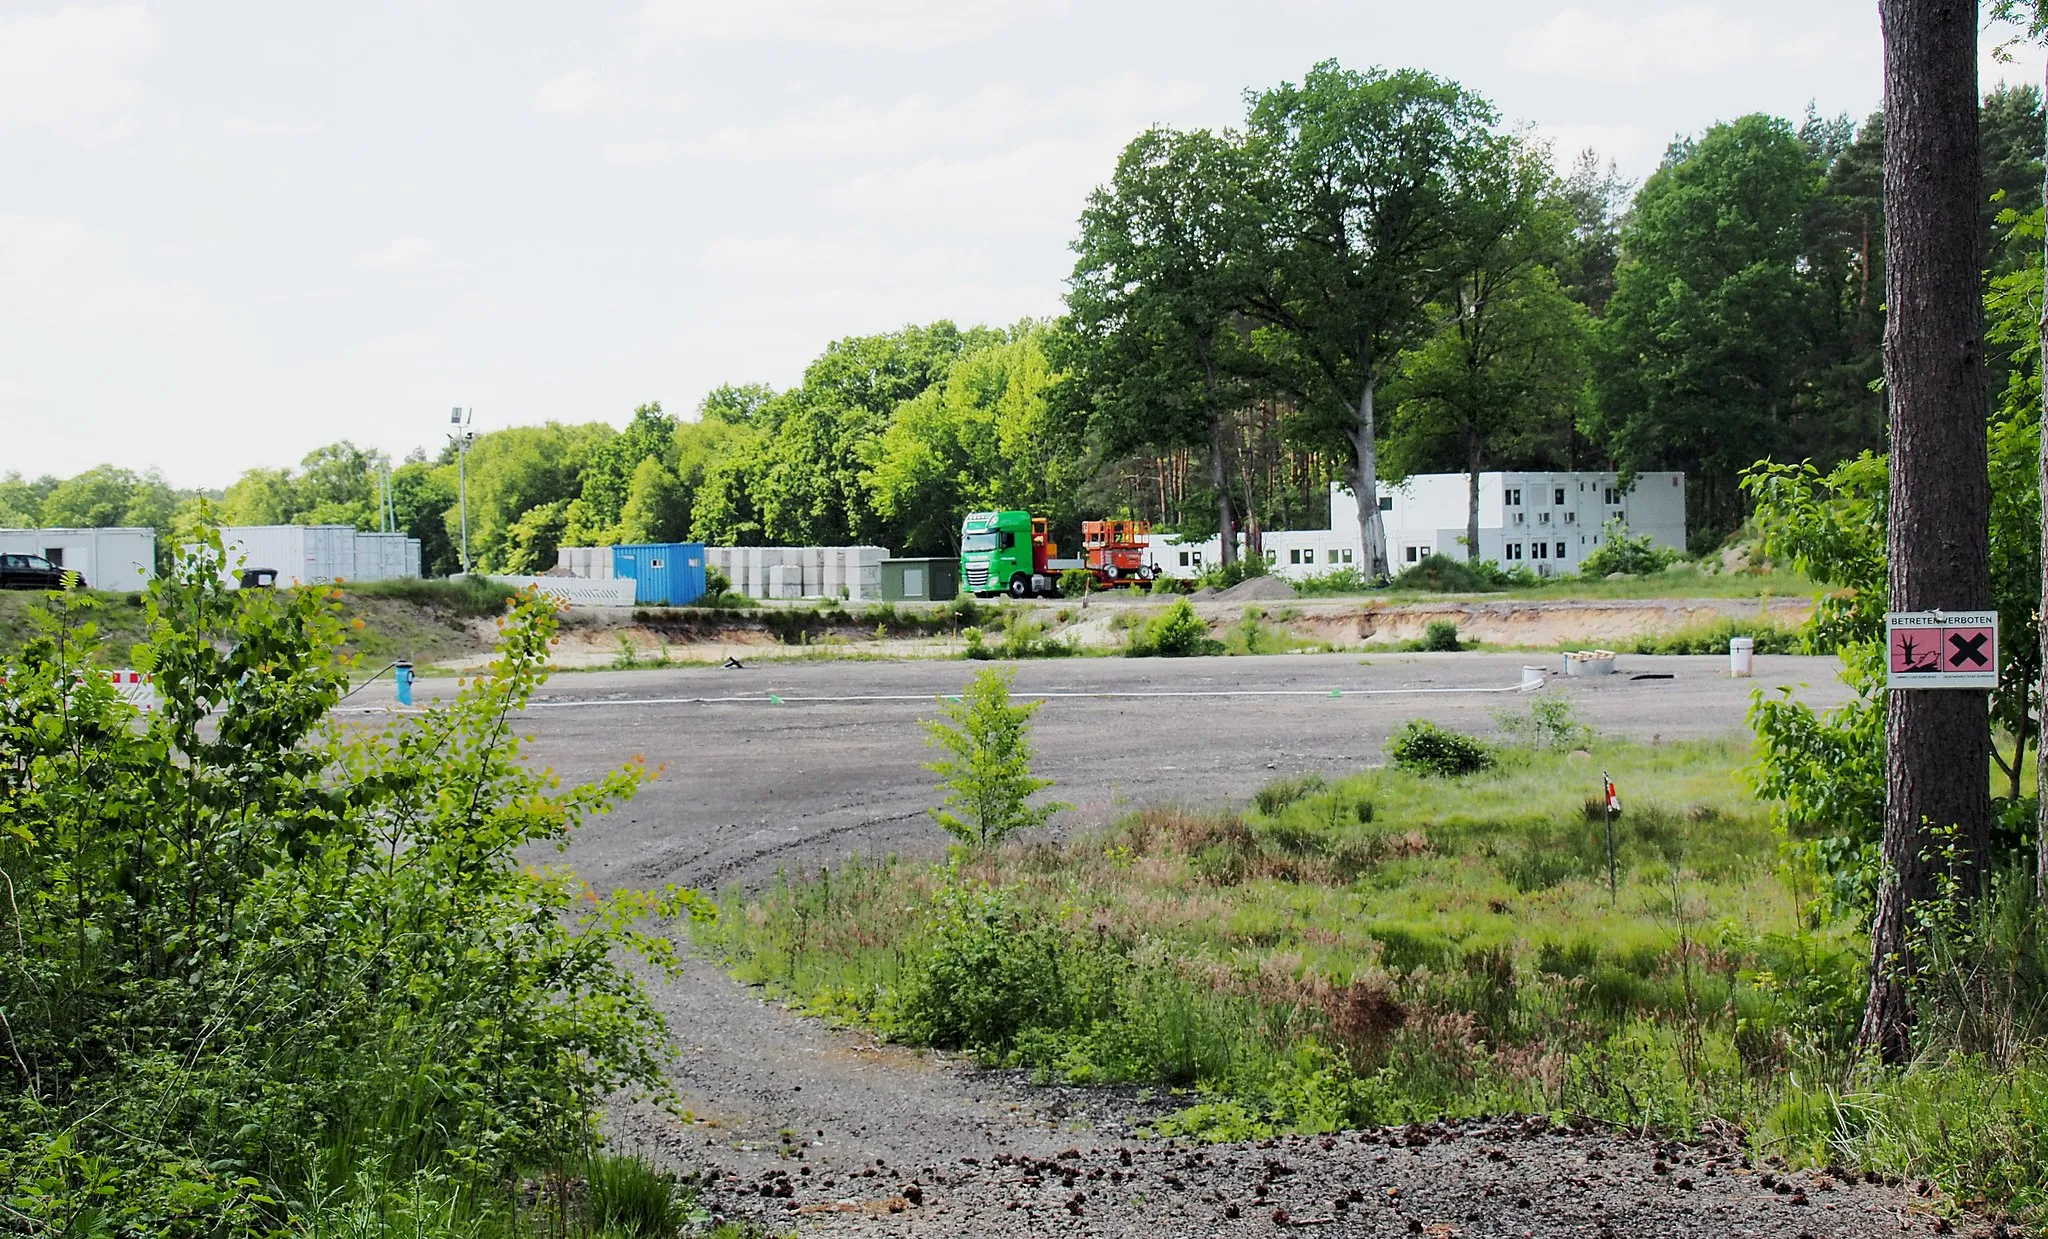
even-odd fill
[[(1731, 1145), (1569, 1130), (1544, 1118), (1432, 1122), (1251, 1145), (1124, 1143), (1053, 1157), (723, 1176), (721, 1216), (782, 1235), (1180, 1239), (1210, 1235), (1784, 1237), (1946, 1235), (1927, 1184), (1753, 1167)], [(1974, 1225), (1976, 1235), (2003, 1235)]]

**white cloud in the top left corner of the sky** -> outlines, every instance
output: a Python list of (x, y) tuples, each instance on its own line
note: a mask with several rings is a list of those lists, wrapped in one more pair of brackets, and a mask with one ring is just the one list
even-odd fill
[(139, 4), (0, 16), (0, 129), (106, 137), (131, 123), (156, 27)]

